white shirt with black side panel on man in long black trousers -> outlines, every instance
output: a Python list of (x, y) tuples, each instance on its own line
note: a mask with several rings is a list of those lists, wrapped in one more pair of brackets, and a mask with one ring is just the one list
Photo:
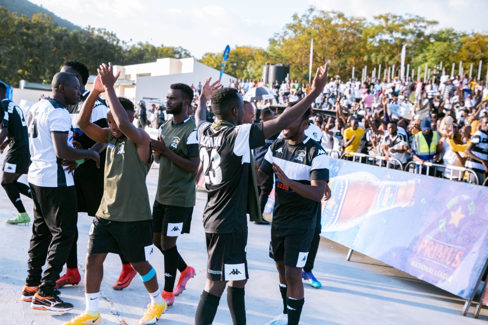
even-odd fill
[(51, 133), (68, 134), (68, 145), (73, 146), (71, 116), (61, 102), (44, 98), (35, 103), (27, 114), (29, 151), (32, 163), (27, 180), (37, 186), (73, 186), (73, 175), (64, 171), (61, 159), (54, 152)]

